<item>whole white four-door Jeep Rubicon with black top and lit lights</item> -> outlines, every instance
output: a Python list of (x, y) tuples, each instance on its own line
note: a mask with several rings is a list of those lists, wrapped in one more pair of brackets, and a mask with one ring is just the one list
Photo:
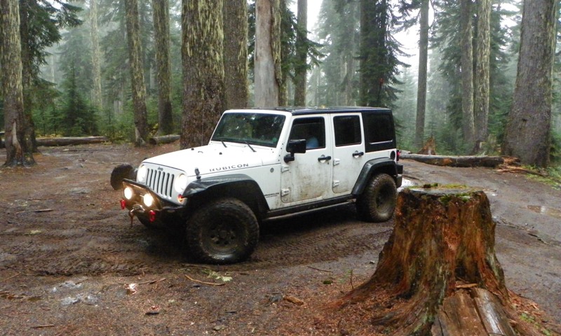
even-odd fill
[(148, 227), (179, 225), (201, 262), (238, 262), (271, 218), (356, 202), (364, 221), (388, 221), (398, 155), (388, 109), (230, 110), (207, 146), (144, 160), (121, 207)]

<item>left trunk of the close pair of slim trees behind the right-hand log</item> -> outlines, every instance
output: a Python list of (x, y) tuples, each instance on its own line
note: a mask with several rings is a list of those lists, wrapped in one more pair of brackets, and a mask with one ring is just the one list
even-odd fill
[(473, 121), (473, 33), (471, 0), (460, 0), (461, 15), (461, 111), (464, 142), (471, 149), (475, 137)]

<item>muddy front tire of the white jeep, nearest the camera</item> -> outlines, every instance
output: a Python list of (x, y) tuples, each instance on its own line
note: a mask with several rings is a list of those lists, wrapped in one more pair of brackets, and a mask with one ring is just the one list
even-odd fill
[(229, 264), (245, 260), (259, 240), (259, 223), (253, 211), (235, 198), (203, 205), (187, 220), (187, 250), (196, 260)]

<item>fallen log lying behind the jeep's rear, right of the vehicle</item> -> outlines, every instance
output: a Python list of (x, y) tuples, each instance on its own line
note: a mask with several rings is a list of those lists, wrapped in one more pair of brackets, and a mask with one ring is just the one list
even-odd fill
[(446, 156), (401, 154), (401, 159), (423, 162), (428, 165), (445, 167), (497, 167), (504, 163), (501, 156)]

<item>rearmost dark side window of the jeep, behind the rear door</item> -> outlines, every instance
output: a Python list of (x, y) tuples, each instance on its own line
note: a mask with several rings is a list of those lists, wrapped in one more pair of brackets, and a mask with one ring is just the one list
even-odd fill
[(366, 151), (381, 151), (396, 148), (396, 131), (391, 114), (363, 113)]

